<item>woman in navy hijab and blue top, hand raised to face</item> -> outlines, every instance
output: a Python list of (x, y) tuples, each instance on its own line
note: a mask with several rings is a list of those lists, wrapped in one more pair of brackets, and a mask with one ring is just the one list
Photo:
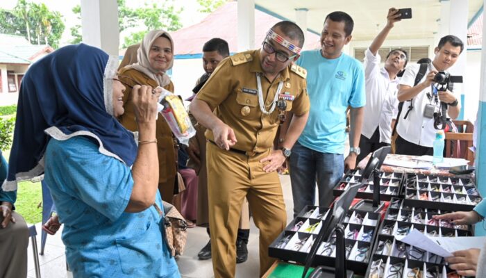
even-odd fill
[(29, 68), (3, 189), (44, 174), (75, 277), (180, 277), (162, 240), (158, 94), (133, 88), (139, 133), (126, 130), (117, 67), (117, 57), (77, 44)]

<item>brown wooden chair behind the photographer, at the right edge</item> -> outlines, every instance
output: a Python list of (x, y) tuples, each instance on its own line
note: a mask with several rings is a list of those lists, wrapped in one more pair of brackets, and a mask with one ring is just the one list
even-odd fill
[(454, 120), (457, 133), (446, 132), (446, 157), (464, 158), (469, 165), (474, 163), (474, 154), (469, 149), (473, 146), (474, 125), (469, 121)]

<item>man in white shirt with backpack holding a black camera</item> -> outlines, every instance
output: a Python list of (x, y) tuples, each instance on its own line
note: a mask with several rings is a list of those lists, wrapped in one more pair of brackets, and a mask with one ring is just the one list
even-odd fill
[[(433, 155), (435, 132), (444, 124), (441, 123), (442, 113), (451, 119), (458, 117), (460, 104), (451, 92), (451, 82), (446, 82), (446, 90), (441, 90), (438, 83), (444, 83), (439, 79), (448, 79), (445, 71), (454, 65), (463, 49), (464, 44), (458, 37), (446, 35), (435, 47), (435, 57), (426, 72), (419, 72), (419, 64), (406, 68), (398, 93), (403, 109), (396, 126), (396, 154)], [(424, 75), (418, 83), (415, 82), (417, 74)], [(442, 110), (441, 106), (446, 109)]]

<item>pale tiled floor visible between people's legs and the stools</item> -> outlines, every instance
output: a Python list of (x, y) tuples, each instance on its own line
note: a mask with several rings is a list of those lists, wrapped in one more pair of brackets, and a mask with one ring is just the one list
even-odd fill
[[(287, 208), (288, 221), (292, 220), (292, 190), (290, 188), (290, 177), (280, 176), (282, 181), (283, 195)], [(37, 247), (40, 250), (40, 224), (37, 228)], [(195, 227), (188, 230), (187, 244), (185, 252), (177, 263), (182, 277), (187, 278), (209, 278), (214, 277), (212, 273), (211, 260), (199, 261), (197, 253), (208, 242), (208, 234), (206, 228)], [(39, 256), (40, 272), (42, 277), (58, 278), (67, 277), (66, 261), (64, 255), (64, 245), (60, 235), (62, 230), (54, 236), (47, 236), (47, 244), (43, 256)], [(258, 229), (251, 221), (250, 239), (248, 244), (249, 259), (245, 263), (237, 264), (236, 277), (254, 278), (259, 274), (259, 260), (258, 260)], [(28, 277), (35, 277), (35, 268), (33, 261), (33, 254), (31, 244), (28, 247)]]

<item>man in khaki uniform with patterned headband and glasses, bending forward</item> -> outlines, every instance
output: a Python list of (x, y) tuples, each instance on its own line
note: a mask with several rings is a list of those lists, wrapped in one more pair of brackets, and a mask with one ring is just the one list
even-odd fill
[[(285, 228), (287, 215), (276, 170), (307, 122), (310, 109), (305, 70), (299, 58), (303, 32), (279, 22), (262, 48), (221, 61), (190, 110), (206, 126), (209, 223), (215, 277), (234, 277), (235, 240), (244, 197), (260, 229), (260, 276), (271, 266), (270, 243)], [(217, 92), (217, 93), (216, 93)], [(273, 149), (285, 111), (294, 117), (282, 149)]]

